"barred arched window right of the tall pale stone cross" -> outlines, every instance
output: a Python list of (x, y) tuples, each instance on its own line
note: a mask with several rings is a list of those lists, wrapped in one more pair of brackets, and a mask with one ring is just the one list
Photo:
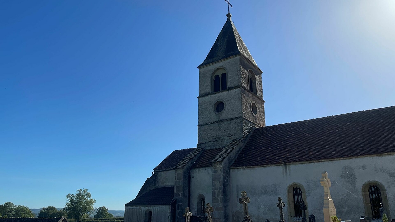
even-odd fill
[(365, 214), (372, 219), (381, 218), (380, 207), (384, 207), (384, 213), (388, 218), (389, 205), (384, 186), (378, 181), (367, 181), (362, 186), (362, 196), (365, 203)]

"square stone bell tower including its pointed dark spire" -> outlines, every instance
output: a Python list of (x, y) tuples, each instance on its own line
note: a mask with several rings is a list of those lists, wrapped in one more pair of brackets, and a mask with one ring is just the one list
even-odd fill
[(231, 14), (199, 68), (198, 147), (225, 147), (265, 126), (262, 71)]

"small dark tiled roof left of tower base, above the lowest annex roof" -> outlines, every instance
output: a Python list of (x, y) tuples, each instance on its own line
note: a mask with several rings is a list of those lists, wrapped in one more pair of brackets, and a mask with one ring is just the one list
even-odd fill
[(200, 150), (201, 149), (190, 148), (173, 151), (169, 156), (166, 157), (166, 159), (156, 166), (154, 170), (182, 168), (189, 162), (189, 160), (194, 157), (194, 155), (197, 154), (196, 151)]

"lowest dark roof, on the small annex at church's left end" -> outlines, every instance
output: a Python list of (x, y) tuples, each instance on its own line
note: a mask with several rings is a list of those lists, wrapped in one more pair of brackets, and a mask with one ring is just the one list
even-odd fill
[(174, 200), (174, 186), (149, 190), (145, 194), (126, 203), (125, 206), (170, 205)]

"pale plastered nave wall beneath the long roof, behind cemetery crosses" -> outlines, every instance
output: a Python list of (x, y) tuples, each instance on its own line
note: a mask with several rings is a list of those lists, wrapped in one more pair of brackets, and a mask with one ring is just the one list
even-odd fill
[(382, 188), (384, 207), (389, 208), (386, 209), (387, 215), (393, 216), (395, 215), (395, 185), (393, 182), (395, 164), (389, 163), (393, 163), (394, 157), (395, 155), (369, 156), (305, 164), (231, 169), (229, 198), (231, 220), (229, 222), (243, 220), (243, 208), (238, 203), (238, 198), (243, 190), (251, 199), (248, 211), (254, 220), (265, 221), (266, 218), (269, 218), (271, 221), (277, 221), (279, 210), (276, 203), (278, 202), (277, 198), (281, 196), (286, 203), (284, 209), (286, 220), (299, 221), (296, 218), (291, 220), (288, 218), (290, 210), (288, 207), (293, 201), (289, 200), (288, 192), (292, 184), (303, 186), (308, 214), (314, 214), (317, 221), (324, 221), (324, 188), (320, 184), (323, 171), (327, 171), (328, 177), (331, 179), (330, 192), (339, 218), (357, 220), (361, 215), (369, 215), (370, 207), (369, 205), (365, 207), (362, 190), (368, 181), (377, 181), (378, 186), (384, 186)]

